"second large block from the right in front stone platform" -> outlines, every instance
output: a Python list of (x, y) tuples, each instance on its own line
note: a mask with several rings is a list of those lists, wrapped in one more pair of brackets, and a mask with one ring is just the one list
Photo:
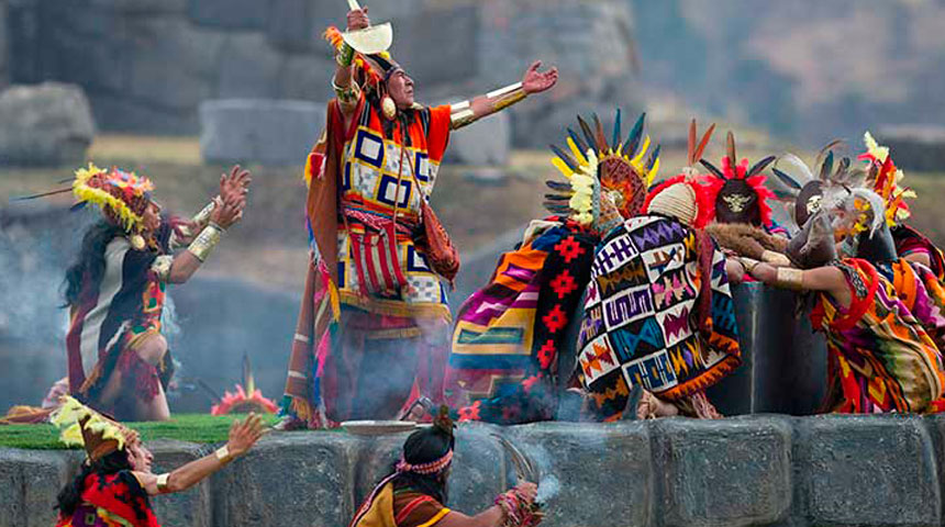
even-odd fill
[(655, 423), (667, 526), (767, 525), (791, 506), (791, 427), (786, 418)]

